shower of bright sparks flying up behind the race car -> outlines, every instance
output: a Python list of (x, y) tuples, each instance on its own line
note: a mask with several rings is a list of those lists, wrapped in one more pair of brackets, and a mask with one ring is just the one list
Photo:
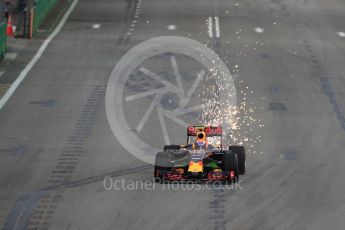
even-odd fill
[[(243, 89), (236, 91), (231, 81), (227, 80), (232, 76), (226, 76), (218, 69), (217, 66), (209, 69), (211, 75), (206, 77), (206, 80), (215, 80), (216, 84), (203, 86), (199, 94), (204, 107), (198, 122), (215, 126), (221, 124), (225, 132), (223, 139), (225, 148), (229, 145), (244, 145), (255, 153), (254, 146), (262, 141), (262, 137), (254, 133), (264, 125), (256, 118), (258, 108), (253, 102), (249, 102), (254, 91), (248, 86), (242, 86)], [(238, 73), (238, 71), (239, 65), (235, 65), (233, 72)], [(238, 77), (238, 75), (233, 76)], [(231, 103), (234, 97), (239, 99), (237, 105)]]

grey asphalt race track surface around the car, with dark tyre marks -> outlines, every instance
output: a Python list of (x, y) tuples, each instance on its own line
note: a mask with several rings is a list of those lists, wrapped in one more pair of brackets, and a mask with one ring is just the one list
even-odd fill
[[(344, 229), (344, 22), (341, 0), (80, 0), (0, 111), (0, 226)], [(115, 138), (104, 98), (121, 57), (160, 36), (207, 44), (234, 76), (241, 116), (252, 120), (237, 130), (247, 173), (232, 189), (104, 187), (107, 176), (152, 180), (153, 166)], [(147, 119), (153, 94), (130, 96), (179, 85), (177, 68), (187, 92), (204, 67), (173, 52), (139, 64), (120, 85), (129, 127), (118, 132), (139, 127), (137, 137), (156, 148), (184, 143), (178, 122), (197, 122), (196, 111), (180, 120), (159, 113), (178, 107), (176, 92), (164, 91)]]

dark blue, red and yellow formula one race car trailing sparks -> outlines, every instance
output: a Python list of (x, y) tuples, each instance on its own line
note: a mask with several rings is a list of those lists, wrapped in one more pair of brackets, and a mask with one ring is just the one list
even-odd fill
[(189, 126), (186, 145), (166, 145), (157, 153), (155, 180), (238, 181), (245, 173), (245, 149), (223, 150), (222, 133), (221, 126)]

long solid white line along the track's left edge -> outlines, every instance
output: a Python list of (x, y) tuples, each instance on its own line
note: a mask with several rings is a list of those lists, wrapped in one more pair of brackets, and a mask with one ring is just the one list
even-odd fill
[(22, 83), (22, 81), (26, 78), (26, 76), (28, 75), (28, 73), (31, 71), (31, 69), (34, 67), (34, 65), (37, 63), (37, 61), (41, 58), (42, 54), (44, 53), (44, 51), (47, 49), (48, 45), (50, 44), (50, 42), (56, 37), (56, 35), (58, 35), (58, 33), (61, 31), (62, 27), (65, 25), (67, 19), (69, 18), (69, 16), (71, 15), (72, 11), (74, 10), (74, 8), (76, 7), (77, 3), (79, 2), (79, 0), (74, 0), (71, 4), (71, 6), (69, 7), (69, 9), (67, 10), (67, 12), (65, 13), (65, 15), (63, 16), (63, 18), (61, 19), (60, 23), (57, 25), (57, 27), (55, 28), (55, 30), (49, 35), (49, 37), (43, 42), (42, 46), (40, 47), (40, 49), (37, 51), (37, 53), (35, 54), (35, 56), (32, 58), (32, 60), (29, 62), (29, 64), (25, 67), (25, 69), (20, 73), (20, 75), (18, 76), (18, 78), (12, 83), (12, 85), (10, 86), (10, 88), (7, 90), (7, 92), (5, 93), (5, 95), (2, 97), (2, 99), (0, 100), (0, 110), (4, 107), (4, 105), (7, 103), (7, 101), (11, 98), (11, 96), (14, 94), (14, 92), (16, 91), (16, 89), (18, 88), (18, 86), (20, 85), (20, 83)]

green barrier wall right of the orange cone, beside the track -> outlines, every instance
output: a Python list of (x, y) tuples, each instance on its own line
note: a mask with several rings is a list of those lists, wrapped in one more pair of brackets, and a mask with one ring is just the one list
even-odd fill
[(51, 9), (58, 3), (58, 0), (38, 0), (34, 8), (33, 33), (42, 24), (43, 20)]

